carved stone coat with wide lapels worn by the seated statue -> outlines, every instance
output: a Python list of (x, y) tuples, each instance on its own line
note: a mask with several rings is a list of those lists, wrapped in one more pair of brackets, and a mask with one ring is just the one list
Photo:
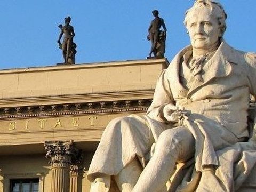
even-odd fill
[(203, 66), (201, 81), (190, 79), (186, 89), (179, 72), (188, 51), (191, 46), (180, 51), (159, 76), (147, 112), (151, 119), (167, 123), (166, 104), (190, 111), (183, 124), (196, 140), (196, 153), (190, 162), (178, 164), (181, 169), (173, 176), (170, 191), (237, 190), (256, 162), (255, 141), (241, 142), (249, 137), (247, 110), (249, 94), (256, 95), (256, 55), (234, 50), (222, 41)]

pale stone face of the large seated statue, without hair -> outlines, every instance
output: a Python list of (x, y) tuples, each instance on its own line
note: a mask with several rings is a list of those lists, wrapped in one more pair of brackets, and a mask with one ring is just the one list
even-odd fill
[(187, 29), (193, 48), (207, 50), (219, 41), (221, 30), (214, 12), (195, 9), (188, 12), (187, 17)]

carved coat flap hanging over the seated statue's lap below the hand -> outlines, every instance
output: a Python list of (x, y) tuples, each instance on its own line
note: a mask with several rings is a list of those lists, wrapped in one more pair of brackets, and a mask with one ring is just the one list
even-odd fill
[[(239, 139), (221, 123), (201, 114), (183, 115), (183, 124), (196, 140), (195, 168), (205, 172), (211, 165), (219, 166), (215, 151), (233, 146)], [(205, 170), (206, 169), (206, 170)]]

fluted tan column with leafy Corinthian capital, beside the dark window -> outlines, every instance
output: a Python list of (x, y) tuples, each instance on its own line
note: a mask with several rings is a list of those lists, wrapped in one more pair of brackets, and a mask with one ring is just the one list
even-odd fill
[(46, 158), (51, 158), (51, 192), (69, 192), (71, 159), (77, 149), (72, 141), (45, 141), (44, 146)]

